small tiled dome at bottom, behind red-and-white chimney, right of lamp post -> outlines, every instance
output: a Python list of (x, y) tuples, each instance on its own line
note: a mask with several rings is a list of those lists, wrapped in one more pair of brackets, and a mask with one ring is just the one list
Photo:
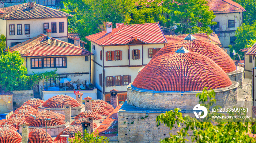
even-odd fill
[(75, 136), (75, 134), (77, 134), (78, 132), (80, 132), (81, 134), (83, 133), (81, 126), (70, 126), (61, 131), (54, 141), (60, 140), (60, 135), (69, 135), (69, 138), (71, 138)]

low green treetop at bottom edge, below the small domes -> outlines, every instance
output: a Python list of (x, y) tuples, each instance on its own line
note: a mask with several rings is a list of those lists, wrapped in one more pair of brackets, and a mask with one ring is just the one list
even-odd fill
[(99, 136), (98, 132), (89, 134), (84, 130), (83, 135), (78, 132), (74, 139), (69, 139), (70, 143), (109, 143), (109, 139), (105, 136)]

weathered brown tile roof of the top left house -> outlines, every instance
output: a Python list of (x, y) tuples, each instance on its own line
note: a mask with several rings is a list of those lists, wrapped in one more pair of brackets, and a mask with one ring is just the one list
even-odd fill
[(39, 4), (35, 4), (35, 9), (30, 9), (28, 3), (18, 4), (1, 9), (4, 13), (0, 15), (0, 19), (4, 20), (47, 19), (73, 16), (71, 14)]

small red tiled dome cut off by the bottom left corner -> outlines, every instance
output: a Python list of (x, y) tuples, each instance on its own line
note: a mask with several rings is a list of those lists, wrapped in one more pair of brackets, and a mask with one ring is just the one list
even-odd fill
[(10, 129), (0, 128), (0, 143), (21, 143), (21, 135)]

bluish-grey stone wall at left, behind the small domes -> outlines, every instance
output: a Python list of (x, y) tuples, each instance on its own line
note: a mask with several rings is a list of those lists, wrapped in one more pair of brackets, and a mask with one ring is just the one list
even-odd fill
[(13, 93), (13, 102), (16, 102), (16, 107), (19, 108), (24, 102), (34, 98), (33, 90), (11, 91)]

